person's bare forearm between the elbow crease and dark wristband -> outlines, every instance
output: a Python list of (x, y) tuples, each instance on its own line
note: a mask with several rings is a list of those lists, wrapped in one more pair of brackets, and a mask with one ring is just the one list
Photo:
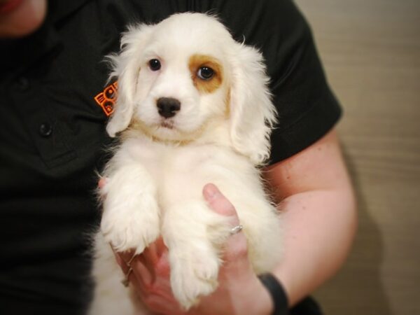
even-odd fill
[(355, 208), (351, 189), (308, 191), (281, 202), (284, 255), (274, 274), (290, 305), (342, 265), (356, 230)]

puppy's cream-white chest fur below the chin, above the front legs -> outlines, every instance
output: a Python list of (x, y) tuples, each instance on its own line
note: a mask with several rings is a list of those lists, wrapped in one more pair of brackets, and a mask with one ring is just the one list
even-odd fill
[(116, 164), (140, 164), (151, 175), (158, 188), (161, 211), (174, 202), (202, 199), (206, 183), (223, 189), (232, 181), (249, 183), (259, 179), (247, 158), (216, 144), (164, 144), (139, 135), (124, 141), (118, 155), (121, 159), (117, 158)]

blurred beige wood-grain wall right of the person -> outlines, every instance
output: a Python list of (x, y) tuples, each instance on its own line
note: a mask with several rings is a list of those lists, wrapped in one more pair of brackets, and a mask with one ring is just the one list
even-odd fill
[(295, 0), (311, 24), (356, 186), (359, 229), (316, 291), (327, 315), (420, 314), (420, 0)]

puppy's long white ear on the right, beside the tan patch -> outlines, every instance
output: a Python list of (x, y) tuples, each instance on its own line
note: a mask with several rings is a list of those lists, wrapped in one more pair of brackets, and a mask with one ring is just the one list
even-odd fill
[(269, 158), (269, 135), (276, 122), (269, 78), (255, 48), (235, 43), (231, 59), (230, 137), (235, 150), (259, 165)]

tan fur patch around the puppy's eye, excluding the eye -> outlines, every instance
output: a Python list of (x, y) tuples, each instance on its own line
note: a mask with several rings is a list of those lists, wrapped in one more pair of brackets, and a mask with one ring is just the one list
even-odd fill
[[(197, 76), (197, 71), (202, 66), (207, 66), (213, 69), (214, 76), (209, 80), (203, 80)], [(214, 57), (207, 55), (193, 55), (190, 57), (188, 67), (190, 68), (194, 86), (202, 93), (212, 93), (223, 83), (223, 67)]]

